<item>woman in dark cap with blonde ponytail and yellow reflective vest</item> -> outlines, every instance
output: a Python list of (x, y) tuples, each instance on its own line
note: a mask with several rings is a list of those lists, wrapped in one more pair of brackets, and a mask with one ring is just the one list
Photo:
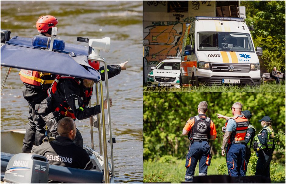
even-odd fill
[(255, 175), (263, 175), (270, 177), (270, 162), (272, 160), (272, 153), (275, 149), (274, 131), (272, 129), (272, 120), (269, 116), (264, 116), (261, 120), (263, 129), (258, 135), (255, 135), (254, 140), (257, 142), (258, 160), (256, 163)]

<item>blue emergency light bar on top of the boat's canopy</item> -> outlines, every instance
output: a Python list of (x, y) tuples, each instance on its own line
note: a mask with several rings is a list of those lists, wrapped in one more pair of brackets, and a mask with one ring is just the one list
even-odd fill
[[(48, 47), (47, 47), (47, 42)], [(32, 45), (35, 48), (44, 48), (49, 49), (51, 44), (51, 39), (47, 36), (34, 36), (32, 39)], [(53, 50), (64, 50), (65, 49), (65, 41), (61, 39), (54, 39)]]

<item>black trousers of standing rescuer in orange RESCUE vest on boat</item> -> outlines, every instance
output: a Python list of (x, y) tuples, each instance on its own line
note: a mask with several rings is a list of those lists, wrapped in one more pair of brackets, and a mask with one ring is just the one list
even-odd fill
[(25, 100), (28, 101), (29, 122), (27, 124), (26, 134), (23, 140), (22, 153), (30, 153), (35, 143), (35, 140), (35, 144), (39, 144), (37, 140), (39, 140), (41, 137), (40, 133), (45, 133), (43, 132), (41, 127), (37, 126), (39, 124), (42, 125), (44, 123), (42, 118), (40, 118), (37, 114), (37, 111), (39, 109), (41, 101), (43, 101), (47, 97), (47, 91), (41, 88), (30, 88), (25, 86), (25, 88), (23, 89), (23, 96)]

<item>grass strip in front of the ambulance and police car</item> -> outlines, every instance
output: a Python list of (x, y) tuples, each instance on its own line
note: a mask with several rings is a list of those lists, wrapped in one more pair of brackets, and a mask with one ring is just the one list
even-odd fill
[(147, 92), (284, 92), (285, 91), (285, 83), (277, 85), (275, 83), (266, 83), (257, 87), (226, 87), (226, 86), (200, 86), (200, 87), (182, 87), (180, 89), (176, 88), (147, 88), (143, 87), (144, 91)]

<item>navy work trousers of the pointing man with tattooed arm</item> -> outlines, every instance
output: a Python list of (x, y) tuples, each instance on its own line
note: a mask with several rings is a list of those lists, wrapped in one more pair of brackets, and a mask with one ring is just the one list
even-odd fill
[(245, 144), (230, 143), (226, 147), (226, 165), (230, 176), (245, 176)]

